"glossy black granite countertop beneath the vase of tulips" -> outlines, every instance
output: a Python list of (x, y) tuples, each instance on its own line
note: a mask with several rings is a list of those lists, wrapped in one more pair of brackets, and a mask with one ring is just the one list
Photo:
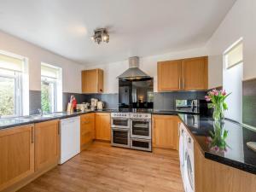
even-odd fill
[(201, 147), (205, 158), (256, 174), (256, 152), (247, 147), (247, 142), (256, 142), (256, 131), (225, 119), (224, 129), (228, 131), (228, 147), (226, 150), (216, 151), (207, 142), (210, 131), (214, 131), (212, 118), (182, 113), (178, 115)]

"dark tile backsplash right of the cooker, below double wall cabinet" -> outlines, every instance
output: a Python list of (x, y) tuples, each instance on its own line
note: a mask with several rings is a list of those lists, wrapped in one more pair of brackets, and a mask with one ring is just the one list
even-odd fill
[(177, 99), (204, 99), (207, 91), (154, 92), (155, 110), (174, 110)]

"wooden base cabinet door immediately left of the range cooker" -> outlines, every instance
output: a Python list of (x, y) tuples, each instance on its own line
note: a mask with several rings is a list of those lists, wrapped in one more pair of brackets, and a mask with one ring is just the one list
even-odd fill
[(110, 113), (96, 113), (96, 139), (110, 141)]

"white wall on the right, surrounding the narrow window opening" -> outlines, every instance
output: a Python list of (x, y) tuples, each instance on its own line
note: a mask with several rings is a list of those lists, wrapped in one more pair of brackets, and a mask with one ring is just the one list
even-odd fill
[(237, 0), (207, 43), (209, 88), (223, 84), (222, 55), (243, 37), (243, 79), (256, 78), (256, 1)]

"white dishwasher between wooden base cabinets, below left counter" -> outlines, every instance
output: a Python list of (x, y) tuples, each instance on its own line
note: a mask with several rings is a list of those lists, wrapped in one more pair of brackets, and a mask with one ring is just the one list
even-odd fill
[(80, 153), (80, 117), (61, 119), (61, 159), (66, 162)]

